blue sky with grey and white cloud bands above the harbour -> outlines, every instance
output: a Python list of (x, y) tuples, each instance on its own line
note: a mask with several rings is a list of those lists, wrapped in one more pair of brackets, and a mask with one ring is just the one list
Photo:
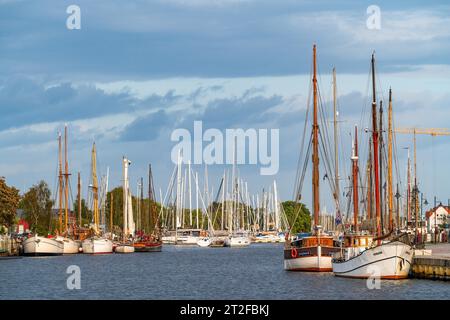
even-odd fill
[[(66, 27), (72, 4), (81, 10), (81, 29)], [(380, 29), (367, 27), (370, 5), (380, 8)], [(193, 132), (194, 121), (203, 121), (205, 129), (221, 132), (279, 129), (277, 174), (261, 175), (260, 165), (242, 165), (239, 172), (251, 192), (276, 180), (280, 198), (290, 200), (312, 45), (329, 120), (331, 70), (337, 70), (345, 179), (355, 124), (361, 159), (367, 157), (372, 52), (378, 99), (387, 101), (393, 90), (395, 126), (445, 128), (449, 40), (446, 1), (0, 0), (0, 176), (22, 192), (41, 179), (54, 190), (57, 135), (67, 124), (73, 190), (81, 172), (83, 194), (88, 192), (94, 141), (100, 175), (110, 168), (111, 187), (121, 185), (127, 156), (132, 186), (147, 176), (151, 163), (156, 189), (165, 190), (174, 166), (172, 132)], [(412, 136), (397, 135), (402, 190), (404, 148), (412, 156), (412, 146)], [(444, 203), (450, 198), (449, 146), (449, 137), (417, 137), (417, 179), (429, 203), (434, 196)], [(208, 167), (216, 191), (225, 169), (230, 166)], [(203, 166), (193, 170), (203, 176)], [(308, 206), (310, 179), (308, 171), (302, 195)], [(322, 207), (331, 211), (330, 191), (322, 185)]]

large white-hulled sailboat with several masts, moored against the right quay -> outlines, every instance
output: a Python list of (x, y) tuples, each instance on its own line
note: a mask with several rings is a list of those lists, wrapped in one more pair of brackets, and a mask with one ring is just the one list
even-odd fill
[[(392, 187), (392, 91), (389, 90), (389, 124), (388, 124), (388, 205), (389, 205), (389, 233), (383, 235), (380, 205), (380, 165), (379, 141), (381, 134), (377, 128), (377, 101), (375, 89), (375, 55), (372, 54), (372, 143), (373, 166), (375, 180), (375, 212), (376, 237), (358, 232), (358, 145), (357, 128), (355, 127), (355, 142), (352, 154), (353, 171), (353, 233), (344, 235), (341, 250), (333, 258), (333, 273), (336, 276), (348, 278), (369, 278), (377, 276), (381, 279), (405, 279), (408, 277), (413, 257), (407, 233), (393, 231), (393, 187)], [(381, 108), (380, 108), (381, 111)], [(372, 146), (370, 146), (372, 147)], [(399, 208), (397, 208), (399, 210)], [(397, 226), (399, 227), (399, 226)]]

